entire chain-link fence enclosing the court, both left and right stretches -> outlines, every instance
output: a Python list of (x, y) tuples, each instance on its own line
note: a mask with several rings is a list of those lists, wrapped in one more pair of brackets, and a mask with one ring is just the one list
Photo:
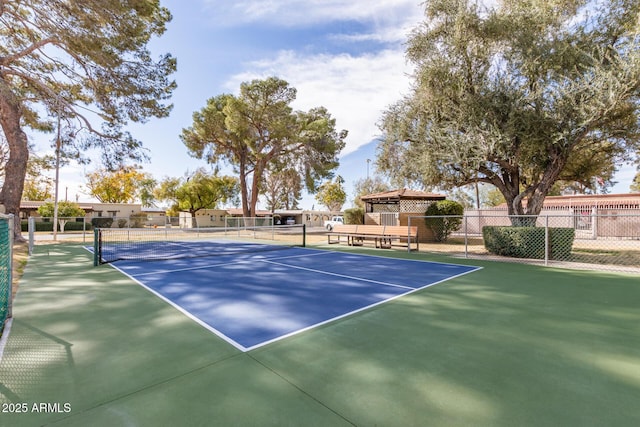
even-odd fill
[[(130, 217), (61, 218), (57, 240), (91, 242), (93, 229), (100, 228), (201, 228), (238, 227), (230, 217), (197, 218), (132, 215)], [(464, 216), (407, 216), (395, 218), (402, 225), (417, 226), (420, 250), (446, 252), (466, 258), (612, 271), (640, 272), (639, 214), (544, 214), (509, 216), (488, 213)], [(246, 220), (243, 220), (246, 222)], [(256, 219), (256, 222), (258, 220)], [(260, 220), (263, 221), (263, 220)], [(23, 221), (30, 241), (53, 240), (53, 219)], [(60, 222), (60, 221), (59, 221)], [(271, 223), (273, 225), (273, 223)], [(246, 224), (244, 224), (246, 225)], [(274, 225), (277, 227), (277, 225)], [(324, 232), (324, 230), (322, 230)], [(319, 237), (319, 242), (324, 234)]]

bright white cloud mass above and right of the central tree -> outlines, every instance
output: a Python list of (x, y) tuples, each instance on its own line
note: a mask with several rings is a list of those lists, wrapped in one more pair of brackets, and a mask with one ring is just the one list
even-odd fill
[(237, 92), (240, 83), (277, 76), (298, 90), (299, 110), (324, 106), (338, 129), (349, 131), (343, 154), (355, 151), (379, 135), (382, 112), (408, 92), (409, 66), (404, 52), (384, 50), (362, 56), (313, 55), (283, 51), (272, 59), (247, 64), (247, 71), (227, 82)]

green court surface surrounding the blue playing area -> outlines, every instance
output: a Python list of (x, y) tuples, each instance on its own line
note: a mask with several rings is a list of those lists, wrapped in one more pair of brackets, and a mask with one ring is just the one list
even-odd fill
[(0, 361), (2, 426), (640, 424), (637, 276), (474, 260), (243, 353), (80, 246), (45, 248)]

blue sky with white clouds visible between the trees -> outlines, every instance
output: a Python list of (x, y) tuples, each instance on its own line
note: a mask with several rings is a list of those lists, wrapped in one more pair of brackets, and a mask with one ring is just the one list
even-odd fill
[[(178, 60), (178, 88), (169, 118), (129, 127), (149, 150), (144, 170), (156, 179), (182, 176), (206, 166), (187, 154), (179, 135), (194, 111), (221, 93), (237, 93), (240, 83), (277, 76), (298, 91), (295, 109), (325, 106), (347, 146), (337, 171), (352, 184), (375, 159), (376, 122), (382, 111), (408, 93), (411, 72), (404, 56), (409, 31), (422, 20), (421, 0), (164, 0), (173, 21), (151, 44), (156, 55)], [(50, 138), (49, 138), (50, 139)], [(45, 149), (47, 143), (39, 144)], [(44, 147), (44, 148), (43, 148)], [(84, 174), (99, 165), (61, 170), (60, 199), (92, 200), (83, 191)], [(374, 173), (373, 162), (370, 173)], [(618, 174), (612, 192), (628, 192), (634, 169)], [(306, 196), (301, 207), (317, 206)]]

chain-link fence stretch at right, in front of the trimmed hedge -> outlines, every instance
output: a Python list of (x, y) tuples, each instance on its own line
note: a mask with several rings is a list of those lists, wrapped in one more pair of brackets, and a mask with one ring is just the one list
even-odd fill
[(412, 216), (420, 249), (466, 258), (640, 273), (640, 215)]

